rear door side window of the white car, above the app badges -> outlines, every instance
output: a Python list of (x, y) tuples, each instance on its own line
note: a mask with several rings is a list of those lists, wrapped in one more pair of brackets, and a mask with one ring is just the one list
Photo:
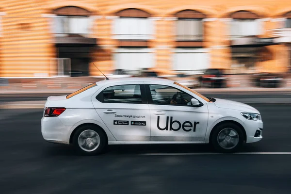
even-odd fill
[(140, 85), (117, 85), (102, 91), (103, 102), (142, 103)]

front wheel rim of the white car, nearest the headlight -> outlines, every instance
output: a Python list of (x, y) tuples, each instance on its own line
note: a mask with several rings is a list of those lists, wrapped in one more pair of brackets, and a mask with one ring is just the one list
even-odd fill
[(222, 129), (217, 136), (219, 146), (224, 149), (232, 149), (238, 145), (240, 141), (239, 134), (236, 130), (231, 128)]

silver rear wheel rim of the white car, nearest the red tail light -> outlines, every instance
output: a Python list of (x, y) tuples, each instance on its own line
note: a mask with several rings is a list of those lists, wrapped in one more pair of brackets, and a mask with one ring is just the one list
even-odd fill
[(80, 133), (78, 137), (78, 145), (86, 152), (96, 150), (100, 145), (100, 136), (94, 130), (87, 129)]

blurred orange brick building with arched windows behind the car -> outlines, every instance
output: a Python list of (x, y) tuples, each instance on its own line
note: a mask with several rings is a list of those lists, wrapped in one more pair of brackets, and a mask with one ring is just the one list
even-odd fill
[(1, 0), (0, 77), (286, 72), (290, 0)]

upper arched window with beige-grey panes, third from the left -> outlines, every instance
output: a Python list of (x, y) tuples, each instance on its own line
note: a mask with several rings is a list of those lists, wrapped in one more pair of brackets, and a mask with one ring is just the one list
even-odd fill
[(203, 22), (206, 15), (194, 11), (183, 10), (175, 14), (178, 17), (176, 26), (177, 40), (184, 41), (202, 41), (203, 40)]

